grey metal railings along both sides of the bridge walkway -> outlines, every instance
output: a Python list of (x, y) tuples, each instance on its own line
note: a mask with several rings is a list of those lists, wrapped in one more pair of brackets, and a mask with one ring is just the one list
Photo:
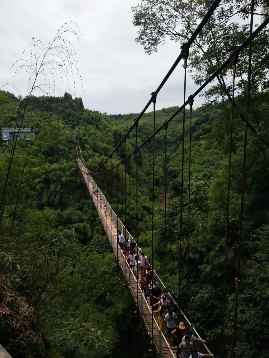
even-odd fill
[[(118, 244), (117, 244), (117, 241), (114, 240), (114, 236), (113, 236), (113, 233), (112, 233), (112, 230), (111, 230), (111, 223), (109, 221), (110, 220), (113, 221), (117, 225), (118, 229), (121, 230), (122, 233), (125, 233), (125, 235), (124, 235), (125, 239), (128, 238), (129, 240), (132, 240), (132, 236), (128, 232), (128, 230), (125, 228), (125, 226), (123, 225), (122, 221), (117, 217), (117, 214), (113, 211), (111, 205), (108, 203), (108, 201), (105, 198), (104, 194), (101, 192), (101, 190), (98, 187), (98, 185), (94, 182), (93, 178), (86, 171), (84, 165), (79, 161), (78, 158), (77, 158), (77, 164), (79, 165), (80, 171), (81, 171), (81, 173), (83, 175), (84, 181), (85, 181), (86, 186), (87, 186), (87, 188), (89, 190), (91, 198), (93, 199), (95, 208), (96, 208), (96, 210), (98, 212), (98, 215), (99, 215), (100, 220), (101, 220), (101, 222), (103, 224), (103, 227), (105, 228), (105, 231), (107, 232), (108, 240), (110, 241), (110, 243), (111, 243), (111, 245), (113, 247), (113, 251), (115, 253), (115, 256), (118, 258), (118, 261), (119, 261), (119, 264), (120, 264), (121, 269), (123, 271), (123, 274), (126, 276), (126, 279), (128, 280), (128, 283), (129, 283), (129, 287), (131, 289), (130, 283), (132, 282), (132, 280), (134, 280), (135, 282), (137, 282), (137, 280), (136, 280), (136, 277), (133, 274), (133, 271), (131, 270), (130, 266), (126, 265), (125, 256), (123, 255), (122, 251), (118, 249)], [(95, 196), (94, 193), (93, 193), (93, 190), (92, 190), (93, 187), (96, 187), (96, 190), (99, 190), (99, 192), (100, 192), (100, 197), (102, 197), (102, 201), (103, 201), (102, 208), (100, 207), (100, 205), (98, 203), (97, 196)], [(107, 218), (104, 217), (105, 216), (104, 211), (103, 211), (104, 205), (106, 206), (107, 213), (110, 216), (110, 219), (108, 219), (108, 220), (107, 220)], [(127, 273), (127, 275), (126, 275), (125, 272)], [(161, 292), (163, 292), (166, 287), (165, 287), (164, 283), (162, 282), (162, 280), (160, 279), (159, 275), (157, 275), (155, 270), (154, 270), (154, 276), (156, 276), (156, 281), (158, 281), (159, 287), (161, 289)], [(150, 308), (149, 308), (148, 303), (147, 303), (147, 301), (146, 301), (146, 299), (145, 299), (145, 297), (143, 295), (143, 292), (140, 289), (140, 286), (138, 286), (137, 290), (139, 292), (139, 295), (141, 296), (141, 300), (139, 300), (140, 303), (139, 303), (138, 300), (137, 300), (138, 301), (137, 303), (138, 303), (140, 312), (141, 312), (141, 314), (143, 316), (145, 326), (148, 329), (149, 334), (151, 335), (151, 328), (150, 327), (151, 327), (152, 318), (150, 318), (150, 322), (149, 322), (149, 321), (147, 321), (145, 319), (145, 316), (143, 315), (143, 312), (146, 312), (147, 310), (150, 310)], [(132, 289), (131, 289), (131, 291), (132, 291), (133, 296), (136, 297), (137, 292), (133, 291)], [(173, 299), (173, 297), (169, 294), (169, 298), (170, 297)], [(173, 299), (173, 301), (174, 301), (174, 299)], [(150, 310), (150, 313), (151, 313), (151, 310)], [(153, 319), (154, 319), (154, 323), (157, 325), (157, 322), (156, 322), (154, 317), (153, 317)], [(186, 329), (187, 330), (192, 330), (193, 335), (196, 338), (201, 338), (200, 335), (198, 334), (197, 330), (193, 327), (193, 325), (190, 323), (188, 318), (183, 314), (181, 309), (179, 309), (179, 318), (178, 318), (178, 320), (179, 320), (179, 322), (183, 321), (184, 325), (186, 326)], [(157, 328), (159, 329), (158, 325), (157, 325)], [(157, 337), (154, 337), (153, 341), (154, 341), (154, 344), (155, 344), (155, 347), (156, 347), (158, 353), (161, 356), (161, 354), (162, 354), (162, 352), (161, 352), (162, 351), (162, 342), (165, 341), (167, 343), (167, 340), (166, 340), (165, 336), (161, 333), (160, 329), (159, 329), (158, 333), (159, 333), (159, 335)], [(169, 345), (169, 344), (167, 343), (167, 345)], [(211, 354), (211, 352), (208, 349), (207, 345), (202, 343), (201, 341), (197, 341), (197, 340), (195, 341), (195, 348), (201, 353)], [(172, 357), (175, 357), (175, 355), (172, 352), (172, 350), (171, 350), (171, 355), (172, 355)]]

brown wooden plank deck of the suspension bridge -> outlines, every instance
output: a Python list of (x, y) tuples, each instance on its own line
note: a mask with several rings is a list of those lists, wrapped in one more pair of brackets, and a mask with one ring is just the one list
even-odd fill
[[(145, 299), (145, 296), (143, 295), (143, 292), (141, 291), (140, 287), (137, 285), (137, 280), (135, 275), (133, 274), (131, 268), (129, 265), (126, 265), (125, 257), (121, 251), (121, 249), (118, 246), (117, 242), (117, 219), (116, 222), (113, 220), (114, 212), (112, 208), (110, 207), (109, 203), (105, 199), (102, 192), (100, 192), (101, 197), (103, 197), (103, 205), (106, 205), (107, 212), (106, 214), (103, 212), (103, 205), (100, 207), (99, 203), (97, 202), (97, 198), (93, 194), (93, 187), (95, 186), (95, 183), (93, 181), (93, 178), (88, 174), (84, 164), (77, 159), (77, 164), (80, 168), (81, 174), (84, 178), (85, 184), (89, 190), (89, 193), (91, 195), (91, 198), (93, 199), (93, 202), (96, 207), (96, 211), (98, 212), (99, 218), (103, 224), (103, 228), (105, 233), (107, 234), (108, 240), (110, 241), (110, 244), (113, 248), (114, 254), (119, 262), (119, 265), (122, 269), (123, 275), (126, 278), (129, 286), (129, 290), (131, 291), (133, 300), (135, 301), (137, 305), (137, 309), (139, 311), (139, 314), (143, 320), (143, 323), (145, 325), (145, 328), (148, 332), (148, 335), (150, 336), (152, 347), (155, 348), (156, 353), (163, 358), (175, 358), (175, 349), (170, 349), (169, 344), (166, 341), (165, 335), (163, 335), (160, 332), (159, 326), (157, 325), (157, 322), (155, 320), (155, 317), (152, 318), (152, 311), (149, 307), (150, 299), (147, 297), (147, 300)], [(97, 185), (96, 185), (97, 187)], [(121, 223), (122, 224), (122, 223)], [(125, 229), (125, 228), (124, 228)], [(126, 232), (124, 230), (121, 230), (123, 233)], [(176, 348), (176, 347), (175, 347)], [(174, 351), (174, 353), (173, 353)]]

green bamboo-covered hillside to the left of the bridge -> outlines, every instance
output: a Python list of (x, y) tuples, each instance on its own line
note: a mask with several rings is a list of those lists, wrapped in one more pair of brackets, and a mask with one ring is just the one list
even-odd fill
[[(1, 131), (16, 125), (19, 104), (0, 92)], [(95, 163), (113, 149), (117, 137), (108, 142), (104, 133), (117, 126), (67, 93), (32, 97), (24, 126), (38, 135), (18, 140), (5, 193), (12, 143), (0, 146), (0, 343), (14, 358), (125, 357), (139, 337), (139, 354), (147, 355), (150, 344), (76, 165), (76, 136)]]

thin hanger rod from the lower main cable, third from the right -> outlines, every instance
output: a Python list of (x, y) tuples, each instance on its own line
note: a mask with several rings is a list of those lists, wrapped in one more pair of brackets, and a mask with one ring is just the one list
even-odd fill
[(190, 139), (189, 139), (189, 188), (188, 188), (188, 238), (187, 238), (187, 291), (186, 291), (186, 309), (188, 311), (189, 303), (189, 256), (190, 256), (190, 164), (191, 164), (191, 151), (192, 151), (192, 106), (193, 98), (189, 97), (190, 105)]

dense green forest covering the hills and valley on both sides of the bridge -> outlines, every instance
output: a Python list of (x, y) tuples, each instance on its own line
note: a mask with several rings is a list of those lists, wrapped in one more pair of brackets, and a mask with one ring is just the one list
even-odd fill
[[(0, 92), (1, 129), (16, 126), (22, 101)], [(242, 102), (242, 103), (241, 103)], [(237, 236), (244, 123), (239, 115), (244, 98), (237, 98), (232, 160), (225, 349), (229, 355), (234, 311)], [(241, 283), (237, 352), (242, 356), (267, 357), (268, 328), (268, 93), (251, 100), (251, 123), (246, 163), (244, 241), (241, 252)], [(156, 128), (176, 107), (156, 112)], [(181, 297), (178, 297), (178, 240), (181, 194), (183, 117), (176, 116), (167, 128), (166, 169), (164, 130), (156, 135), (154, 192), (154, 266), (164, 276), (166, 237), (166, 286), (198, 329), (208, 346), (219, 352), (225, 274), (228, 143), (230, 105), (226, 102), (198, 108), (192, 113), (190, 246), (188, 255), (188, 170), (184, 172), (183, 253)], [(135, 114), (102, 115), (85, 109), (81, 98), (31, 97), (24, 127), (38, 131), (33, 141), (20, 139), (8, 173), (12, 143), (1, 142), (1, 309), (0, 343), (15, 357), (125, 357), (131, 349), (143, 357), (146, 340), (139, 319), (133, 319), (128, 290), (109, 252), (108, 242), (93, 210), (76, 165), (75, 141), (79, 141), (87, 168), (95, 170), (110, 155), (133, 123)], [(185, 167), (188, 167), (190, 113), (186, 110)], [(138, 145), (152, 134), (153, 113), (146, 113), (138, 126)], [(70, 128), (75, 126), (75, 128)], [(126, 141), (126, 154), (136, 146), (133, 133)], [(118, 151), (118, 160), (124, 158)], [(150, 151), (152, 158), (152, 149)], [(115, 156), (107, 169), (117, 164)], [(148, 146), (139, 151), (140, 246), (148, 248)], [(152, 169), (152, 159), (150, 163)], [(164, 227), (164, 178), (166, 170), (166, 228)], [(126, 171), (126, 175), (125, 175)], [(125, 176), (129, 187), (125, 192)], [(115, 197), (118, 179), (119, 196)], [(118, 178), (96, 174), (113, 209), (127, 228), (136, 233), (136, 162), (120, 166)], [(102, 187), (102, 186), (103, 187)], [(129, 189), (130, 188), (130, 189)], [(113, 190), (112, 190), (113, 189)], [(151, 194), (150, 194), (151, 195)], [(152, 197), (150, 196), (150, 201)], [(118, 204), (118, 205), (116, 205)], [(126, 207), (128, 210), (126, 211)], [(126, 220), (125, 220), (126, 219)], [(166, 231), (166, 234), (165, 234)], [(151, 257), (148, 255), (149, 258)], [(187, 277), (188, 272), (188, 277)], [(188, 308), (187, 308), (188, 287)], [(27, 314), (25, 313), (27, 312)], [(105, 323), (105, 324), (104, 324)], [(119, 330), (120, 328), (120, 330)], [(7, 334), (8, 332), (8, 334)], [(124, 332), (124, 333), (123, 333)], [(124, 337), (124, 338), (123, 338)], [(143, 347), (143, 348), (141, 348)], [(144, 351), (142, 351), (145, 349)]]

